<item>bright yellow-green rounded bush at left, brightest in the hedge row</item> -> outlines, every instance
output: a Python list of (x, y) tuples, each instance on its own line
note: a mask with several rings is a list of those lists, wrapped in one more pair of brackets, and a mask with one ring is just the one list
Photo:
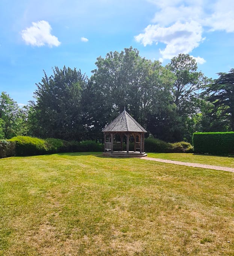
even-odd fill
[(45, 140), (28, 136), (17, 136), (8, 141), (15, 142), (16, 155), (43, 155), (47, 153)]

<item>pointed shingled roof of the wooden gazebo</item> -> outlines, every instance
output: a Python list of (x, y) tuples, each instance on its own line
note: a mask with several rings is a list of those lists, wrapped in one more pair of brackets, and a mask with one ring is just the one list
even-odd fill
[(103, 129), (103, 132), (107, 131), (137, 131), (147, 133), (147, 131), (137, 121), (128, 114), (125, 110), (116, 117), (113, 122)]

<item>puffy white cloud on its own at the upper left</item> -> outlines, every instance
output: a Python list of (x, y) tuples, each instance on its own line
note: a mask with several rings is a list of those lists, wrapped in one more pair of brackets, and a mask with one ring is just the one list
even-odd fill
[(21, 31), (21, 35), (26, 44), (32, 46), (59, 46), (61, 43), (58, 38), (51, 35), (51, 26), (48, 21), (41, 20), (38, 22), (32, 22), (31, 27), (27, 27)]

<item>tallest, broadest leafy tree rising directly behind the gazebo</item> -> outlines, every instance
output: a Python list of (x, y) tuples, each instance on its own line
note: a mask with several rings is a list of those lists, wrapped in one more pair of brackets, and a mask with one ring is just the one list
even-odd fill
[(132, 47), (109, 52), (106, 58), (100, 56), (95, 64), (97, 69), (92, 71), (83, 104), (94, 138), (101, 138), (101, 129), (124, 107), (145, 128), (151, 128), (149, 132), (156, 134), (155, 126), (149, 125), (149, 115), (163, 118), (162, 113), (172, 103), (172, 72), (159, 61), (142, 58)]

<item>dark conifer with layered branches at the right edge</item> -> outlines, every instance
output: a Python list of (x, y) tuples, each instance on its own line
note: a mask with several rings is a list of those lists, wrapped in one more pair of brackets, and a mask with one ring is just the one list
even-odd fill
[(220, 123), (234, 131), (234, 69), (229, 73), (218, 73), (206, 90), (208, 100), (214, 105), (212, 113), (221, 118)]

